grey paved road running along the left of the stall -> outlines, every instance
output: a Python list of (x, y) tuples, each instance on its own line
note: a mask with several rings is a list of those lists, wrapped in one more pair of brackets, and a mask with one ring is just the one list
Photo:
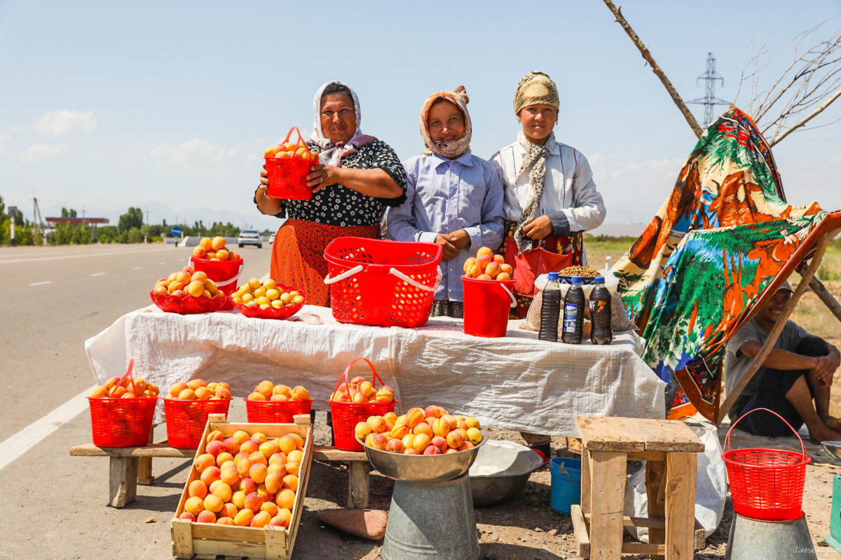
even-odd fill
[[(270, 251), (241, 249), (241, 279), (267, 274)], [(155, 280), (190, 253), (161, 244), (0, 248), (0, 442), (91, 387), (85, 339), (149, 305)], [(106, 507), (108, 461), (67, 454), (90, 438), (85, 408), (0, 470), (0, 560), (167, 557), (161, 524), (180, 493), (183, 462), (159, 460), (158, 483), (143, 490), (150, 500), (116, 510)], [(156, 522), (145, 524), (150, 517)]]

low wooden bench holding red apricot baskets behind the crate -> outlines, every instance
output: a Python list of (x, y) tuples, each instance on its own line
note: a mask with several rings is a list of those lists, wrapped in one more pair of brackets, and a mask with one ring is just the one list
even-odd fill
[[(73, 457), (108, 457), (111, 465), (108, 472), (108, 503), (124, 507), (135, 500), (137, 484), (149, 485), (155, 481), (151, 476), (151, 460), (155, 457), (192, 459), (195, 449), (176, 449), (167, 445), (167, 440), (153, 442), (142, 447), (97, 447), (93, 443), (70, 448)], [(336, 447), (313, 447), (316, 461), (341, 461), (350, 464), (350, 479), (347, 484), (347, 507), (368, 507), (368, 474), (370, 466), (364, 452), (342, 451)]]

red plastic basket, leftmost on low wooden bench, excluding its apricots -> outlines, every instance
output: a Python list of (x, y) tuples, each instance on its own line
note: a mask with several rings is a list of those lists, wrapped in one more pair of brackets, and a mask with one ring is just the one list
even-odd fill
[(97, 447), (139, 447), (149, 443), (156, 398), (87, 397), (91, 432)]

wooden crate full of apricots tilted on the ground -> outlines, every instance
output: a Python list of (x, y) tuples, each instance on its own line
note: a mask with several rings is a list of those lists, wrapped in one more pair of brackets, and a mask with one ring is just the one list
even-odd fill
[(172, 519), (172, 554), (288, 560), (313, 453), (295, 424), (228, 424), (211, 415)]

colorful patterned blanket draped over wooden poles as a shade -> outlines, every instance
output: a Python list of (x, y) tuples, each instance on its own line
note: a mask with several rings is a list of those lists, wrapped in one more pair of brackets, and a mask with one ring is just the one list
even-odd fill
[(647, 340), (643, 359), (669, 384), (669, 417), (697, 410), (719, 420), (727, 340), (814, 249), (827, 216), (817, 202), (785, 201), (768, 144), (738, 108), (706, 129), (613, 267)]

